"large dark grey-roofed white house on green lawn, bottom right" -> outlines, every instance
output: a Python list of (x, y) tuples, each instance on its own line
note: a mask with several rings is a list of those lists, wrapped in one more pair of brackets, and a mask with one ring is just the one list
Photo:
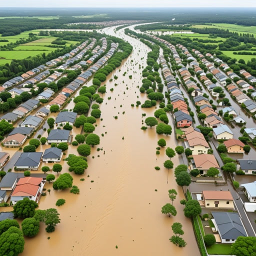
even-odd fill
[(238, 236), (247, 236), (238, 213), (212, 211), (211, 214), (222, 243), (233, 243)]

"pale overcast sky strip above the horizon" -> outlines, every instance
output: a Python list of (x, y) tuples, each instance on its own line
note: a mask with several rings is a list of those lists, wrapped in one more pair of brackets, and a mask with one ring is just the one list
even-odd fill
[(0, 7), (256, 7), (255, 0), (0, 0)]

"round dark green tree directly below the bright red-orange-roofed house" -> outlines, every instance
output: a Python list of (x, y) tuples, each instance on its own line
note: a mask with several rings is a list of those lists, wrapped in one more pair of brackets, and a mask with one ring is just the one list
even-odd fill
[(38, 204), (29, 200), (28, 197), (24, 197), (22, 200), (17, 201), (13, 206), (14, 217), (27, 218), (34, 215), (34, 209), (38, 207)]

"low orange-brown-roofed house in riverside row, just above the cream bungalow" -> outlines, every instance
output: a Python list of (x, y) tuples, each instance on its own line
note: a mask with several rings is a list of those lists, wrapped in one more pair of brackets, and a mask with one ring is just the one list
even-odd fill
[(192, 166), (205, 174), (210, 167), (219, 169), (217, 160), (213, 154), (193, 154)]

